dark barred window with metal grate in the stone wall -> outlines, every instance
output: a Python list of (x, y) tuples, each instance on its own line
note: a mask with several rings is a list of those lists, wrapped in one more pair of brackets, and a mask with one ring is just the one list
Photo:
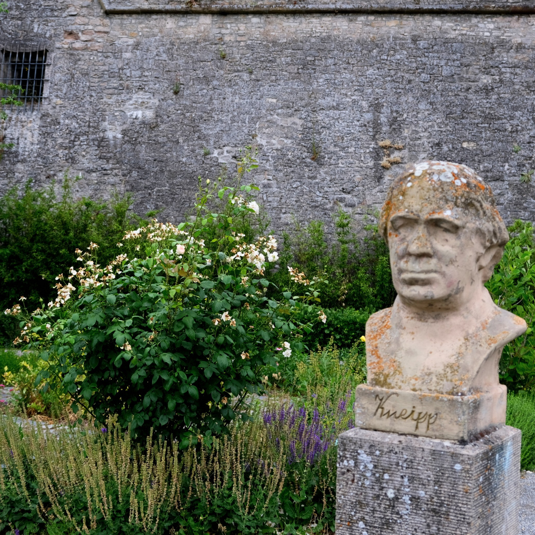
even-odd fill
[[(0, 82), (20, 86), (17, 95), (22, 106), (12, 109), (39, 110), (43, 100), (47, 50), (36, 43), (0, 43)], [(0, 96), (7, 91), (0, 92)]]

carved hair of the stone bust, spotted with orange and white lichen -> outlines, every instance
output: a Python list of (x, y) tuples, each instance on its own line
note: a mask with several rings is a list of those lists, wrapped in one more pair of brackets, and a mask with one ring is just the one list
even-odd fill
[(503, 247), (509, 241), (509, 233), (496, 209), (490, 186), (470, 167), (451, 162), (430, 161), (409, 165), (394, 179), (379, 219), (379, 233), (385, 241), (388, 242), (388, 220), (391, 213), (402, 207), (406, 188), (422, 187), (424, 184), (431, 186), (433, 201), (436, 200), (437, 204), (469, 212), (478, 226), (483, 245), (487, 249), (494, 245), (500, 246), (501, 258)]

